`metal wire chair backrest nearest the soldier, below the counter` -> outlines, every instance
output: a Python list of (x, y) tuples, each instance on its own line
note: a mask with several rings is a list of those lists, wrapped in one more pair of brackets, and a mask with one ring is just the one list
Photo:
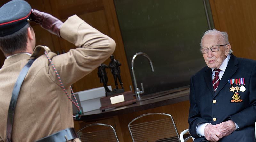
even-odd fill
[(114, 127), (107, 124), (85, 125), (76, 134), (82, 142), (119, 142)]

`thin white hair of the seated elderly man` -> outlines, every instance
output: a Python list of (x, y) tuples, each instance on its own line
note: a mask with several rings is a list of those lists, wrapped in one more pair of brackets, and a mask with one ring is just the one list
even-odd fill
[[(225, 44), (229, 44), (228, 33), (227, 32), (221, 32), (221, 31), (218, 31), (216, 29), (212, 29), (212, 30), (206, 31), (204, 33), (204, 35), (220, 35), (220, 37), (224, 40)], [(204, 38), (204, 35), (203, 35), (202, 39)], [(201, 43), (200, 43), (201, 47), (202, 47), (202, 39), (201, 39)], [(233, 51), (230, 49), (229, 54), (231, 54), (231, 53), (233, 53)]]

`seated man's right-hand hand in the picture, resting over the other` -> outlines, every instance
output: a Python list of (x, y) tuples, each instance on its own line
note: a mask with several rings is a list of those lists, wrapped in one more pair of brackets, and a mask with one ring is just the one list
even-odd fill
[(222, 134), (223, 137), (230, 135), (232, 132), (236, 130), (235, 122), (233, 122), (232, 120), (212, 125), (212, 127), (216, 128)]

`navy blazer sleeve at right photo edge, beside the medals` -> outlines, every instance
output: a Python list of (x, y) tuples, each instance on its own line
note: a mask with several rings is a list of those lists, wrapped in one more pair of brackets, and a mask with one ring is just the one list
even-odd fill
[[(239, 113), (234, 114), (229, 119), (234, 121), (239, 129), (242, 129), (247, 126), (252, 126), (256, 120), (256, 67), (254, 66), (250, 81), (249, 81), (249, 107), (245, 108), (244, 110), (240, 111)], [(250, 117), (248, 117), (250, 116)]]

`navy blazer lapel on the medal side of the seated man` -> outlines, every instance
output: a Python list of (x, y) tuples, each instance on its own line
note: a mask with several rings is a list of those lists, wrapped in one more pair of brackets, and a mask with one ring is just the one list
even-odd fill
[(231, 54), (230, 59), (228, 61), (227, 68), (220, 80), (220, 84), (219, 84), (216, 92), (214, 93), (214, 97), (227, 84), (227, 82), (231, 78), (231, 76), (235, 74), (236, 70), (238, 69), (238, 67), (236, 66), (237, 64), (238, 64), (238, 61), (237, 61), (236, 57), (233, 54)]

